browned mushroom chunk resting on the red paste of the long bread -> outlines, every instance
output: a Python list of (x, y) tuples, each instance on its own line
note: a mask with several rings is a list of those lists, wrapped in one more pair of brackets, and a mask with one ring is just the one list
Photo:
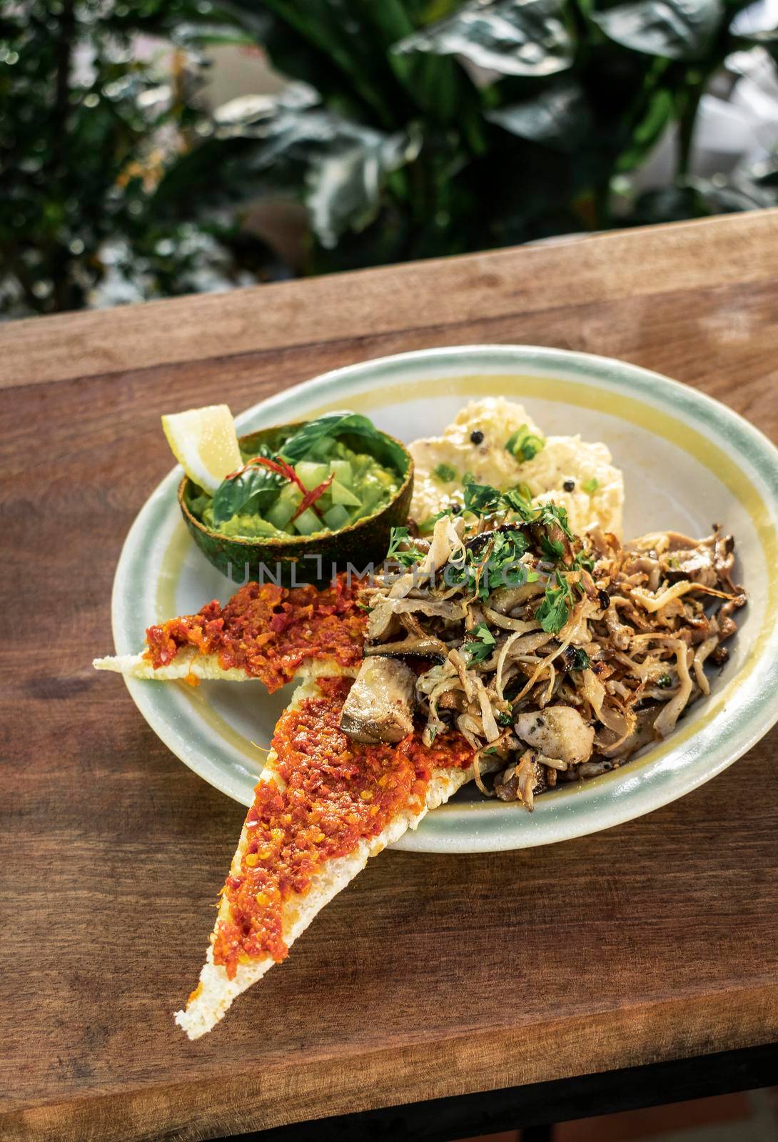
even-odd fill
[(354, 741), (401, 741), (414, 729), (416, 675), (392, 658), (362, 662), (340, 710), (340, 729)]

